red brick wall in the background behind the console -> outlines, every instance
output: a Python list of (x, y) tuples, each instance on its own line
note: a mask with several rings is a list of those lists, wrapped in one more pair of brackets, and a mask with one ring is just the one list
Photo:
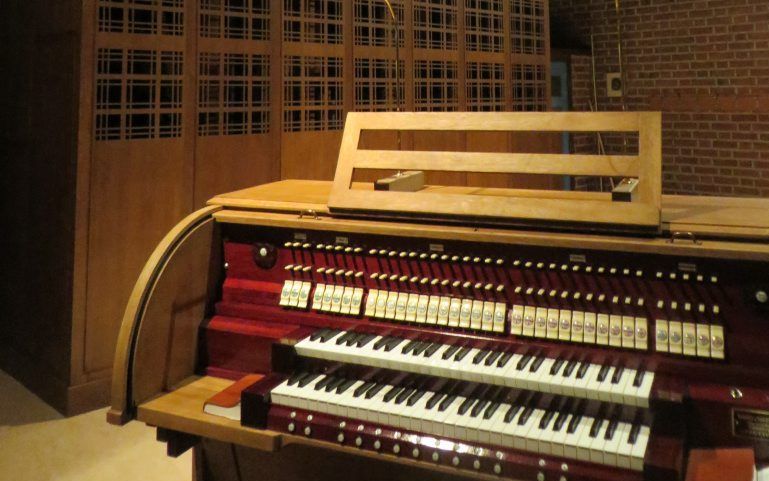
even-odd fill
[[(622, 0), (625, 102), (663, 112), (665, 193), (769, 196), (769, 1)], [(561, 28), (590, 45), (594, 34), (598, 109), (618, 71), (614, 0), (551, 0)], [(574, 57), (575, 110), (589, 110), (589, 57)], [(579, 151), (594, 150), (575, 138)], [(618, 148), (608, 139), (607, 151)]]

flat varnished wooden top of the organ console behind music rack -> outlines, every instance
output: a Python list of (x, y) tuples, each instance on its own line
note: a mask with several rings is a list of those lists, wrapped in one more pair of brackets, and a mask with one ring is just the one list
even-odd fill
[[(373, 189), (371, 184), (353, 184), (355, 189)], [(230, 209), (299, 212), (313, 209), (327, 214), (326, 201), (331, 189), (327, 181), (284, 180), (222, 194), (209, 201)], [(427, 189), (473, 195), (505, 195), (507, 189), (435, 187)], [(516, 195), (530, 192), (518, 190)], [(585, 199), (604, 195), (580, 193)], [(769, 238), (769, 199), (735, 197), (662, 196), (663, 232), (691, 231), (702, 236)]]

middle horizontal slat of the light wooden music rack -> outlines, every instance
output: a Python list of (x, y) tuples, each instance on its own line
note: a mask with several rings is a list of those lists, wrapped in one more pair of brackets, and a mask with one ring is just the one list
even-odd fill
[(638, 175), (637, 157), (630, 155), (359, 150), (355, 154), (354, 168), (603, 177)]

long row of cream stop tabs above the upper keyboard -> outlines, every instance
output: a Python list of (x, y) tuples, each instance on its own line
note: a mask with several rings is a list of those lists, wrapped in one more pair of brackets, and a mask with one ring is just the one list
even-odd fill
[[(287, 280), (279, 305), (306, 309), (312, 284)], [(311, 308), (321, 312), (395, 322), (456, 327), (615, 348), (648, 350), (645, 317), (513, 305), (470, 298), (371, 289), (363, 305), (360, 287), (318, 284)], [(724, 359), (724, 328), (720, 324), (656, 320), (655, 349), (691, 357)]]

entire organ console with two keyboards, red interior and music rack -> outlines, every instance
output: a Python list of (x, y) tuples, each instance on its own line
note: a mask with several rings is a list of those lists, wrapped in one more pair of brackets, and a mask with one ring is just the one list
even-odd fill
[[(490, 166), (366, 151), (367, 128), (636, 131), (638, 154)], [(268, 459), (262, 474), (301, 447), (312, 463), (292, 475), (321, 478), (326, 462), (351, 470), (329, 478), (389, 463), (387, 479), (672, 480), (698, 447), (766, 462), (769, 204), (662, 196), (659, 160), (655, 113), (351, 114), (334, 184), (220, 195), (161, 242), (126, 309), (108, 419), (157, 427), (172, 454), (255, 448), (237, 463)], [(639, 191), (355, 182), (401, 168), (616, 175)], [(248, 373), (263, 377), (240, 422), (203, 411)], [(215, 465), (196, 474), (220, 479)]]

